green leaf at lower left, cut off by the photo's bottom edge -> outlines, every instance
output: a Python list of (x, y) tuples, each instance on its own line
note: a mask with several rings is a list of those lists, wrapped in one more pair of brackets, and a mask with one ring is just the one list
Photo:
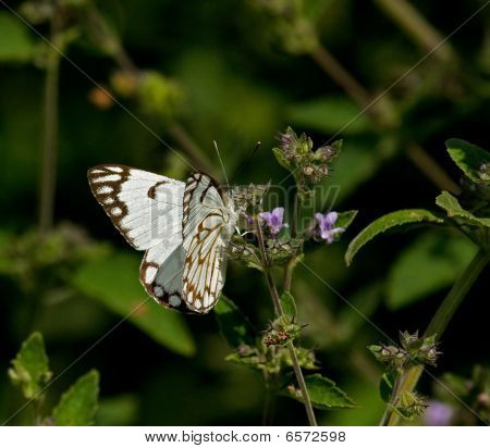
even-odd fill
[(99, 373), (81, 376), (61, 397), (52, 416), (57, 426), (88, 426), (94, 423), (99, 396)]

